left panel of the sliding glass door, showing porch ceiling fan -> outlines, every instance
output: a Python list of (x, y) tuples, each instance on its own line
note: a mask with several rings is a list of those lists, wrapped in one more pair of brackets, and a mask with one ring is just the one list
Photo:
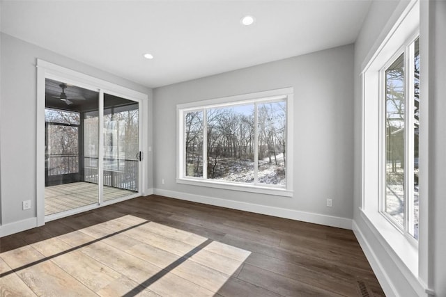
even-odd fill
[(70, 83), (45, 80), (45, 216), (95, 205), (98, 174), (99, 93)]

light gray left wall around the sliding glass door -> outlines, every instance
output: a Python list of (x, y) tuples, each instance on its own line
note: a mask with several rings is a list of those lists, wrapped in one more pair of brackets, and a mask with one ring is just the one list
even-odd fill
[[(36, 218), (37, 58), (146, 93), (151, 98), (149, 88), (1, 33), (0, 198), (3, 227)], [(153, 176), (149, 175), (148, 187), (151, 188)], [(31, 200), (31, 209), (22, 210), (23, 200)]]

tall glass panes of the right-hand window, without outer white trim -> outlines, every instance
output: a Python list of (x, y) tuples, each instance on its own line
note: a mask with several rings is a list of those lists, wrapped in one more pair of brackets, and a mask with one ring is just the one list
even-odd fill
[(419, 38), (383, 71), (385, 81), (385, 191), (383, 213), (418, 239)]

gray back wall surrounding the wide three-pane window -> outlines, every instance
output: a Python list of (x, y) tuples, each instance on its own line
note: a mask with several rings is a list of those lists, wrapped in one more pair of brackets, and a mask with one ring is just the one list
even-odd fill
[[(294, 88), (292, 198), (176, 184), (176, 104), (285, 87)], [(353, 218), (353, 45), (155, 88), (153, 97), (154, 188)]]

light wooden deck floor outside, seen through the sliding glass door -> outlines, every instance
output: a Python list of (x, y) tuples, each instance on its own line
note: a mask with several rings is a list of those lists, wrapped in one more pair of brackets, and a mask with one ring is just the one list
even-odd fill
[[(104, 201), (134, 194), (133, 191), (104, 186)], [(73, 182), (45, 186), (45, 216), (98, 203), (98, 184)]]

